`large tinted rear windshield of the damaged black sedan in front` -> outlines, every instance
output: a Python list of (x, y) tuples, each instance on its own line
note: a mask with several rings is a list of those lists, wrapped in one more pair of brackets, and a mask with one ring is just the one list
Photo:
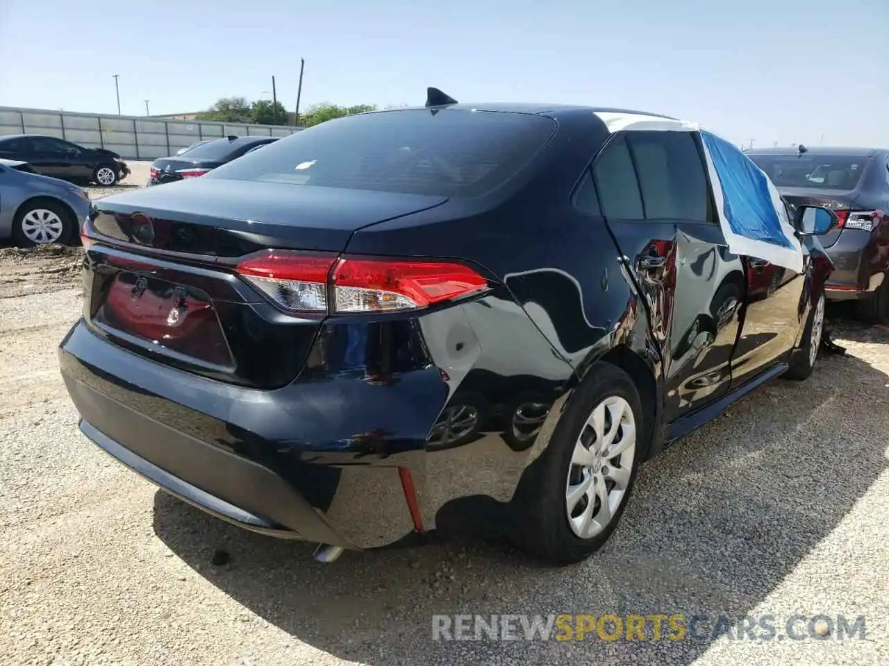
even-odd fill
[(404, 194), (479, 196), (501, 186), (547, 142), (541, 115), (411, 109), (327, 121), (206, 178)]

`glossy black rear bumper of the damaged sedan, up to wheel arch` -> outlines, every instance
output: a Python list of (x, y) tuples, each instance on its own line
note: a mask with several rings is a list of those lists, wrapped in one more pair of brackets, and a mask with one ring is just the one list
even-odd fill
[(176, 369), (84, 319), (59, 359), (81, 430), (123, 464), (248, 529), (358, 549), (507, 526), (576, 379), (505, 290), (324, 323), (275, 389)]

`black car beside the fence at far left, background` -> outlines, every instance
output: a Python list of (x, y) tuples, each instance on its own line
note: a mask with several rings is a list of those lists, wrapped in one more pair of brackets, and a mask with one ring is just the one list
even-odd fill
[(0, 158), (27, 162), (41, 176), (112, 186), (130, 175), (120, 155), (39, 134), (0, 137)]

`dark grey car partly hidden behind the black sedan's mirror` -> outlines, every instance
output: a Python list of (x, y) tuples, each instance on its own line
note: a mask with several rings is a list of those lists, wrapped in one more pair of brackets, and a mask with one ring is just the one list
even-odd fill
[(839, 226), (821, 237), (834, 263), (830, 300), (855, 300), (861, 319), (889, 322), (889, 150), (791, 147), (746, 151), (792, 204), (827, 206)]

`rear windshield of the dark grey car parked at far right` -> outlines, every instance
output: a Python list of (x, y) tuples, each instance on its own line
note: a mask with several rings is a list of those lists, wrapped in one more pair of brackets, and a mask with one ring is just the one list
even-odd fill
[(776, 187), (852, 190), (858, 186), (866, 155), (757, 155), (748, 157)]

